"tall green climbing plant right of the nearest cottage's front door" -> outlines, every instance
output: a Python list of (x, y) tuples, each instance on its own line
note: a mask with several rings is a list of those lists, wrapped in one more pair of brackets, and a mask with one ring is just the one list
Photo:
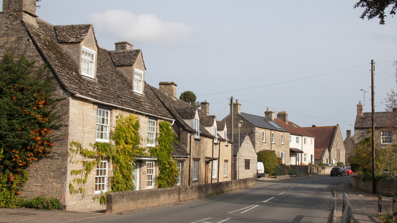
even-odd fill
[(171, 129), (171, 123), (159, 123), (158, 147), (150, 148), (149, 152), (152, 156), (157, 156), (157, 165), (159, 166), (159, 174), (156, 178), (157, 187), (173, 187), (178, 177), (177, 163), (172, 159), (173, 145), (176, 135)]

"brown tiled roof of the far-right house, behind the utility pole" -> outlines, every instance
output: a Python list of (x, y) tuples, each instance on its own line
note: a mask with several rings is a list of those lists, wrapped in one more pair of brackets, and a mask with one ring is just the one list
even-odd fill
[[(375, 113), (375, 127), (376, 128), (391, 128), (397, 126), (397, 112), (383, 111)], [(372, 114), (363, 113), (363, 115), (356, 116), (354, 128), (371, 128)]]

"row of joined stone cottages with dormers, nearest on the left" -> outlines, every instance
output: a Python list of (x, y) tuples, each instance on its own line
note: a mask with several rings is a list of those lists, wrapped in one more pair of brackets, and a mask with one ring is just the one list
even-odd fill
[[(111, 161), (104, 158), (95, 167), (83, 185), (84, 196), (70, 193), (69, 185), (74, 179), (71, 171), (81, 168), (74, 161), (83, 157), (76, 155), (72, 160), (68, 156), (69, 144), (77, 141), (89, 149), (95, 142), (112, 143), (110, 135), (117, 116), (131, 114), (139, 119), (139, 135), (143, 138), (140, 146), (144, 148), (158, 146), (156, 136), (160, 122), (172, 124), (179, 140), (173, 152), (180, 171), (178, 184), (231, 179), (228, 176), (231, 176), (232, 165), (225, 161), (232, 157), (231, 147), (224, 143), (227, 139), (217, 132), (214, 136), (202, 126), (200, 119), (206, 120), (208, 116), (204, 111), (176, 99), (174, 82), (160, 82), (160, 89), (146, 83), (146, 65), (140, 49), (133, 49), (128, 42), (115, 43), (115, 50), (105, 49), (98, 45), (92, 24), (52, 25), (38, 18), (35, 2), (3, 0), (0, 55), (10, 49), (16, 54), (24, 53), (27, 59), (38, 64), (48, 64), (59, 83), (55, 94), (65, 98), (59, 107), (65, 117), (64, 127), (56, 132), (62, 137), (54, 143), (52, 152), (27, 167), (30, 179), (24, 184), (21, 196), (40, 191), (47, 196), (61, 197), (66, 210), (103, 209), (93, 198), (110, 191)], [(174, 90), (174, 86), (174, 92), (168, 91)], [(189, 116), (190, 111), (193, 117)], [(216, 121), (213, 123), (216, 127)], [(135, 157), (137, 190), (157, 187), (156, 159)], [(226, 176), (219, 176), (219, 165), (229, 166)]]

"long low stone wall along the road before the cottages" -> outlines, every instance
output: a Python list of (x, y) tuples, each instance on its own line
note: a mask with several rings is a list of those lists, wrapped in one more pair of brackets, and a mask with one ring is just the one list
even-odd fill
[(112, 192), (106, 194), (106, 213), (172, 204), (253, 185), (255, 178), (245, 178), (212, 184)]

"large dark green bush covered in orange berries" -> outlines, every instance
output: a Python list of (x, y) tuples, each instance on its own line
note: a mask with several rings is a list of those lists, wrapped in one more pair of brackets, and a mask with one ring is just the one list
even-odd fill
[(45, 157), (58, 137), (61, 98), (47, 67), (6, 52), (0, 61), (0, 207), (14, 207), (26, 167)]

